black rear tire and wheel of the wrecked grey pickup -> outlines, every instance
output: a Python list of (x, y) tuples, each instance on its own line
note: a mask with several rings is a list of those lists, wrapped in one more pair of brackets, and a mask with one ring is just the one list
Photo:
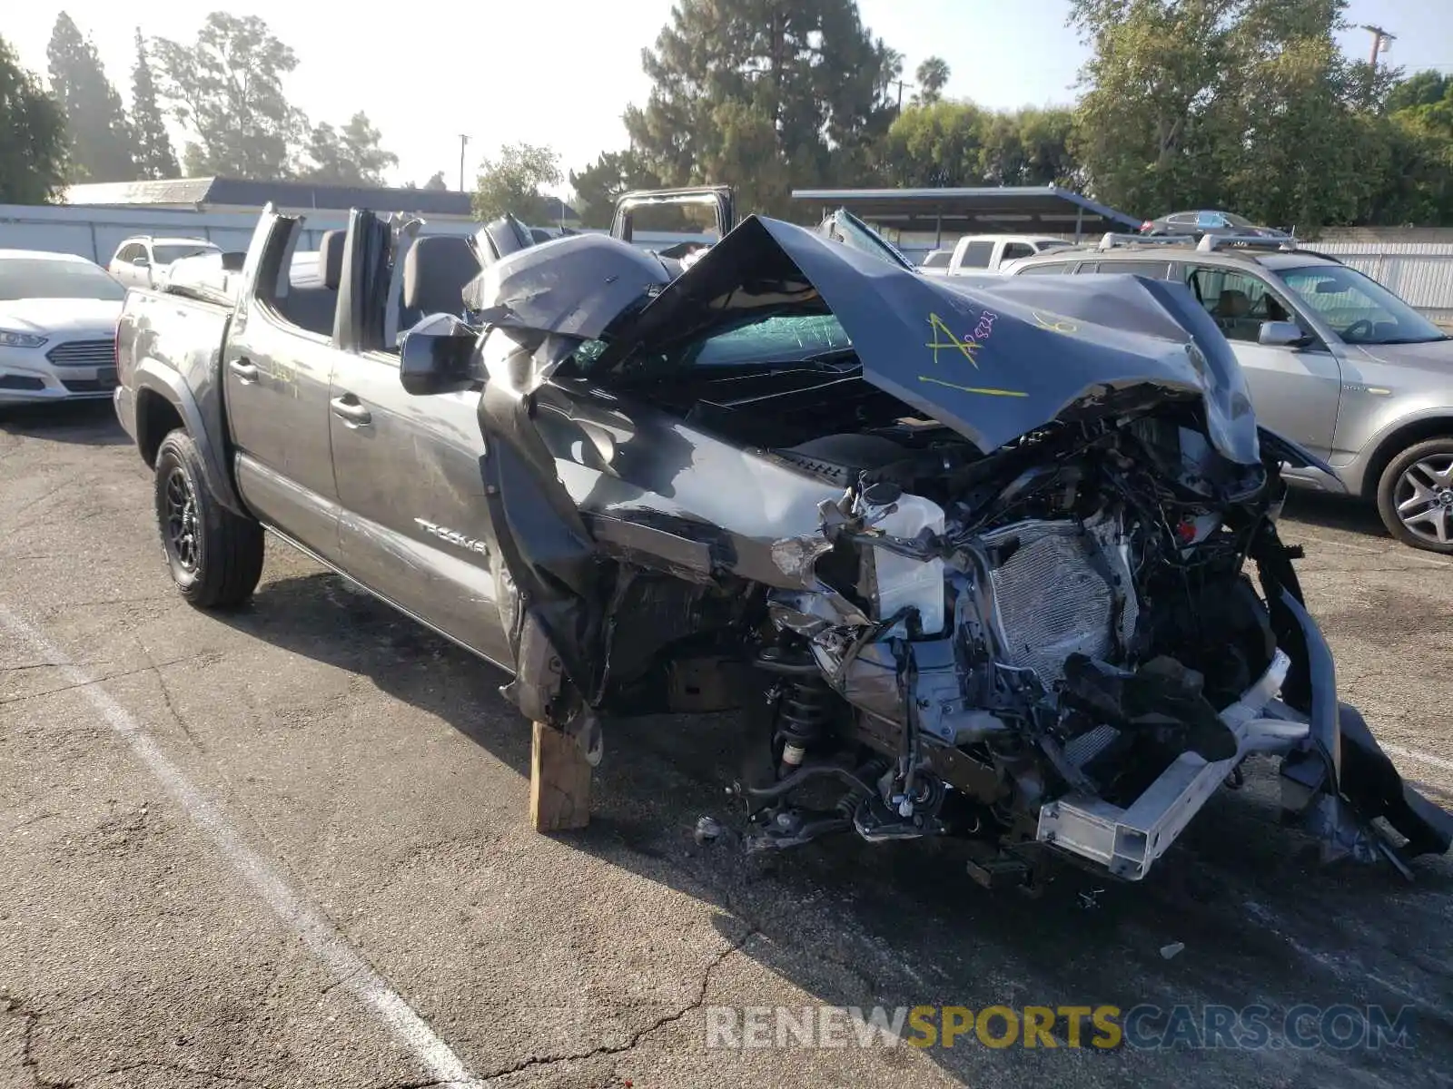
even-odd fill
[(263, 527), (216, 501), (192, 436), (177, 428), (157, 449), (157, 531), (171, 581), (198, 608), (232, 608), (263, 574)]

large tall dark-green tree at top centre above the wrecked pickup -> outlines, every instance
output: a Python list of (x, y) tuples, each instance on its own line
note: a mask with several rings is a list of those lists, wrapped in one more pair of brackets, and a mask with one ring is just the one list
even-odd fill
[(626, 131), (667, 184), (734, 184), (783, 213), (793, 186), (862, 179), (899, 65), (854, 0), (680, 0), (642, 52), (652, 89)]

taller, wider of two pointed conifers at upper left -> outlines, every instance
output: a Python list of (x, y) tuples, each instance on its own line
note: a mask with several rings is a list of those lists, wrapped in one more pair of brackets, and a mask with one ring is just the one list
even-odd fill
[(55, 17), (45, 49), (51, 93), (65, 112), (71, 135), (73, 182), (128, 182), (137, 176), (131, 158), (131, 125), (121, 94), (106, 78), (96, 46), (65, 13)]

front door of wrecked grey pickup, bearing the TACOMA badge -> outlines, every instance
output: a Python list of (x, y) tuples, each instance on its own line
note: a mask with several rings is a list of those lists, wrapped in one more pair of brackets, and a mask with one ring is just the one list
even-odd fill
[[(461, 314), (479, 263), (464, 238), (424, 237), (388, 269), (389, 228), (355, 213), (355, 244), (372, 232), (385, 260), (344, 292), (352, 350), (328, 391), (341, 563), (352, 578), (442, 635), (494, 662), (510, 649), (495, 600), (497, 549), (479, 476), (478, 391), (413, 398), (400, 383), (397, 337), (378, 335), (382, 308)], [(356, 263), (350, 261), (350, 269)], [(389, 290), (388, 280), (395, 280)], [(356, 302), (355, 302), (356, 301)]]

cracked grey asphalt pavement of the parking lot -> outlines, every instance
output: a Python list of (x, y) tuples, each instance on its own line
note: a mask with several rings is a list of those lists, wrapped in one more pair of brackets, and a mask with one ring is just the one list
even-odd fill
[[(1343, 698), (1453, 807), (1453, 562), (1345, 501), (1284, 536)], [(248, 607), (192, 610), (109, 405), (0, 420), (0, 1086), (1453, 1085), (1453, 860), (1321, 865), (1268, 765), (1146, 881), (1029, 899), (942, 844), (697, 844), (734, 716), (613, 723), (590, 828), (536, 835), (503, 680), (276, 542)], [(760, 1008), (1145, 1003), (1408, 1031), (744, 1045)]]

